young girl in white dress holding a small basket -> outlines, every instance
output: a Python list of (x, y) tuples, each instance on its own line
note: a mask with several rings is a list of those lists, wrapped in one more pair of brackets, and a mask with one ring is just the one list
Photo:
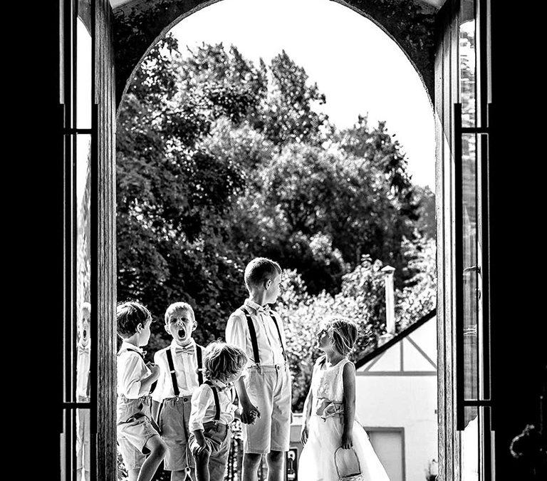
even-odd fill
[(355, 418), (355, 366), (348, 359), (358, 327), (339, 317), (318, 333), (325, 354), (313, 366), (304, 403), (298, 480), (338, 481), (361, 472), (365, 481), (389, 481), (368, 435)]

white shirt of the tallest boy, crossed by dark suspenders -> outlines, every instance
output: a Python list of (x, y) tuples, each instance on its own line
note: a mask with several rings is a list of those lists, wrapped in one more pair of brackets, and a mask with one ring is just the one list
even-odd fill
[[(251, 299), (245, 299), (244, 306), (251, 316), (251, 320), (254, 324), (254, 330), (256, 331), (256, 343), (259, 346), (260, 363), (262, 366), (273, 366), (274, 364), (283, 364), (285, 359), (283, 358), (283, 348), (279, 342), (279, 334), (276, 329), (276, 325), (273, 324), (270, 313), (271, 311), (268, 304), (266, 306), (260, 306)], [(286, 348), (285, 341), (285, 329), (283, 329), (283, 321), (281, 316), (276, 312), (273, 312), (276, 316), (277, 325), (281, 332), (281, 339), (283, 347)], [(247, 367), (254, 366), (254, 353), (253, 345), (251, 343), (251, 334), (249, 333), (249, 326), (247, 326), (247, 318), (243, 311), (236, 309), (231, 314), (226, 324), (226, 342), (239, 346), (249, 358)]]

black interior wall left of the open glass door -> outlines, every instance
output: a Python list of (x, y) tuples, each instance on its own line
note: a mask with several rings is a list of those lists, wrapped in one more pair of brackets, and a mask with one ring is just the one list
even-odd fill
[[(58, 2), (38, 2), (28, 16), (19, 6), (10, 18), (20, 22), (21, 35), (33, 45), (24, 48), (14, 39), (5, 48), (13, 63), (6, 63), (11, 77), (3, 109), (9, 170), (4, 170), (3, 185), (13, 222), (4, 224), (5, 239), (11, 239), (4, 260), (12, 269), (4, 278), (9, 287), (3, 347), (4, 358), (17, 360), (6, 369), (13, 373), (6, 387), (19, 391), (8, 401), (6, 420), (16, 428), (10, 429), (5, 459), (14, 479), (30, 477), (38, 466), (58, 479), (64, 338)], [(24, 445), (31, 448), (32, 459), (21, 462), (15, 456)]]

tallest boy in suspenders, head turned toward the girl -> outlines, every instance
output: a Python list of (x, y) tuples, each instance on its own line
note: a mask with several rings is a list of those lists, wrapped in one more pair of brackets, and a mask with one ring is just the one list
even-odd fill
[(257, 257), (247, 264), (244, 280), (249, 298), (226, 324), (226, 341), (239, 346), (249, 358), (245, 378), (235, 384), (241, 421), (246, 423), (242, 479), (257, 480), (261, 457), (266, 454), (268, 480), (281, 481), (291, 429), (291, 377), (283, 321), (269, 306), (280, 292), (281, 267)]

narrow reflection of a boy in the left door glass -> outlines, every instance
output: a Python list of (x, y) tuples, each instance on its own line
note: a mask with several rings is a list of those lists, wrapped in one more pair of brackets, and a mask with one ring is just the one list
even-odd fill
[[(90, 338), (89, 321), (91, 304), (83, 302), (78, 321), (78, 361), (76, 364), (76, 396), (78, 403), (89, 403)], [(90, 416), (89, 409), (76, 410), (76, 481), (90, 480)]]

